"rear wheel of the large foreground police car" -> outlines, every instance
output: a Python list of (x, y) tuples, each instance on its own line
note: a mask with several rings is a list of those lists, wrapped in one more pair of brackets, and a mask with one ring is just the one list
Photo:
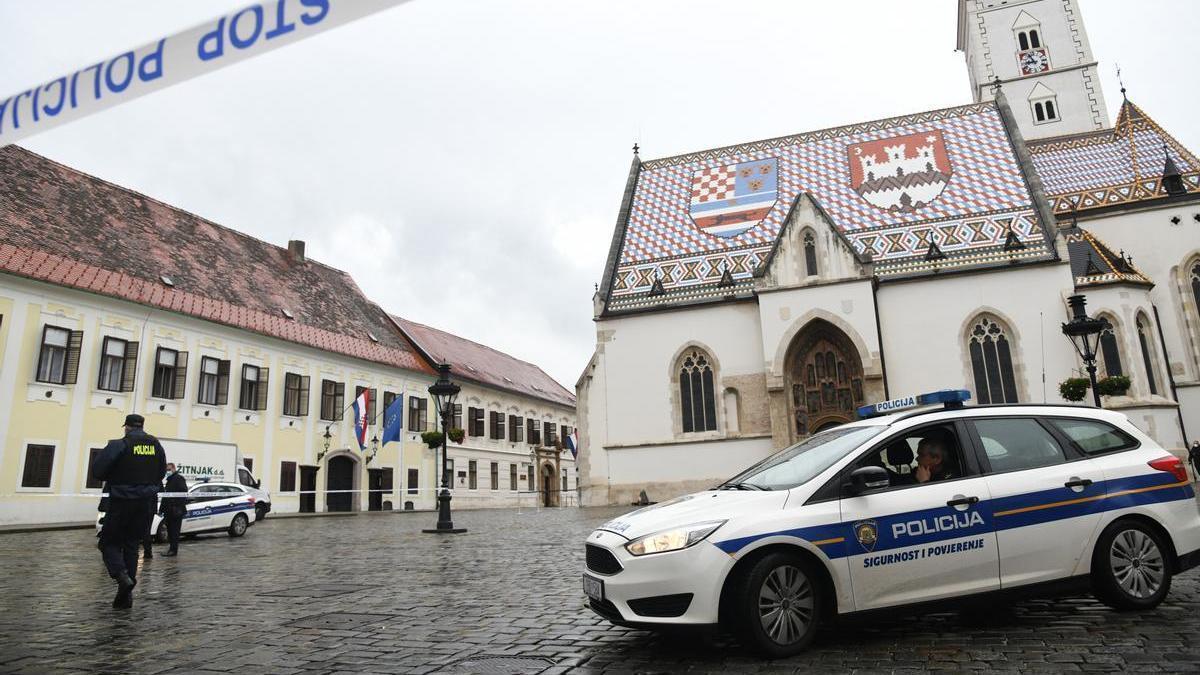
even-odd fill
[(1118, 521), (1096, 542), (1092, 583), (1096, 596), (1114, 609), (1157, 607), (1171, 589), (1169, 549), (1153, 530)]

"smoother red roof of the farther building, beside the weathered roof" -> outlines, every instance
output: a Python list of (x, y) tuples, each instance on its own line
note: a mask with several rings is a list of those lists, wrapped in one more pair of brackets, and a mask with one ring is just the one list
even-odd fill
[(433, 362), (452, 366), (451, 377), (523, 396), (575, 407), (575, 394), (536, 365), (445, 330), (392, 315), (396, 325)]

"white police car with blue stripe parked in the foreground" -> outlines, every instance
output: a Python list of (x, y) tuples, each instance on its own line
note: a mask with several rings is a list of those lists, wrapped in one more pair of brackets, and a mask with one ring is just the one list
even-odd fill
[[(968, 398), (864, 406), (712, 490), (604, 524), (586, 542), (588, 604), (620, 626), (721, 623), (779, 657), (838, 615), (991, 593), (1150, 609), (1200, 563), (1183, 464), (1123, 414)], [(943, 406), (899, 411), (924, 404)]]

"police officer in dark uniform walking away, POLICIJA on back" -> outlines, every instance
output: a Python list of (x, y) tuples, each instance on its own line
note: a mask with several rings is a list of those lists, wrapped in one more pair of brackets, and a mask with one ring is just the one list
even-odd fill
[(108, 482), (108, 512), (100, 530), (108, 575), (116, 580), (114, 608), (133, 607), (138, 546), (150, 530), (155, 503), (167, 471), (167, 453), (146, 434), (140, 414), (125, 416), (125, 437), (109, 441), (91, 465), (92, 476)]

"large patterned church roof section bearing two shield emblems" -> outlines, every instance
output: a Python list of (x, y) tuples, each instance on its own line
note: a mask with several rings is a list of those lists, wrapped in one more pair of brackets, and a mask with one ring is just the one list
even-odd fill
[(749, 287), (802, 193), (881, 276), (1052, 255), (995, 103), (652, 160), (631, 181), (607, 311)]

